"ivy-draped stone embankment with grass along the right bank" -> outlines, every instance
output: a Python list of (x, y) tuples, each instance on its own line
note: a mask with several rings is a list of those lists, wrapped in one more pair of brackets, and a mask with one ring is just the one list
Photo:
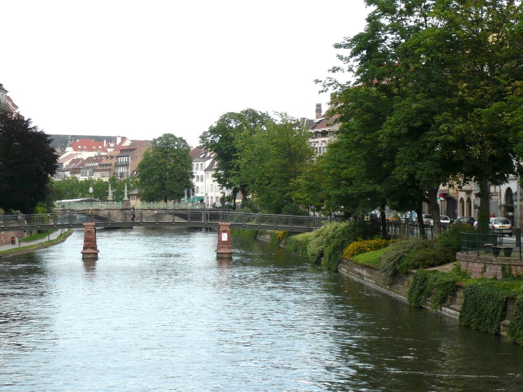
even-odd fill
[[(256, 238), (276, 243), (276, 234), (258, 232)], [(293, 241), (289, 243), (289, 238), (299, 238), (299, 246)], [(283, 243), (280, 241), (279, 245), (300, 252), (303, 248), (309, 248), (310, 238), (300, 238), (299, 235), (289, 238)], [(473, 272), (477, 268), (472, 268), (475, 264), (468, 259), (461, 260), (460, 256), (458, 252), (452, 262), (437, 267), (410, 269), (393, 277), (387, 276), (387, 279), (381, 271), (381, 263), (360, 264), (343, 257), (338, 259), (341, 261), (336, 271), (411, 306), (425, 308), (450, 317), (460, 325), (491, 335), (503, 335), (523, 344), (523, 296), (517, 289), (520, 286), (517, 279), (519, 270), (514, 274), (499, 257), (492, 260), (492, 268), (485, 267), (486, 260), (481, 259), (481, 276), (476, 276)], [(323, 260), (321, 262), (323, 267)], [(498, 279), (488, 279), (491, 275), (489, 271), (495, 272)]]

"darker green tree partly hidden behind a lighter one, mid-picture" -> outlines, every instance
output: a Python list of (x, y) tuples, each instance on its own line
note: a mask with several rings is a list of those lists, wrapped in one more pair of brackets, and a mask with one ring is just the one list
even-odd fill
[[(203, 147), (215, 152), (220, 162), (220, 170), (214, 176), (220, 187), (238, 190), (246, 197), (246, 186), (238, 176), (241, 152), (238, 151), (237, 139), (241, 134), (252, 135), (258, 130), (264, 131), (268, 123), (272, 123), (269, 114), (254, 109), (245, 109), (241, 112), (228, 112), (200, 135)], [(238, 182), (239, 181), (239, 182)]]

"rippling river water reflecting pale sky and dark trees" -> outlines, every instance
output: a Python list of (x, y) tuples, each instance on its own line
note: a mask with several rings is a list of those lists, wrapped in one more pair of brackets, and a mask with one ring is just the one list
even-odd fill
[(277, 246), (98, 230), (0, 260), (0, 391), (521, 391), (523, 349)]

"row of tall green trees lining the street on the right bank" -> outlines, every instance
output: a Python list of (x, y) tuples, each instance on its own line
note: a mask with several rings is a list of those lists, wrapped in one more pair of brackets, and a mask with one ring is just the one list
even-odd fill
[(523, 152), (521, 2), (366, 3), (365, 30), (335, 45), (349, 51), (339, 56), (346, 68), (331, 70), (356, 83), (319, 81), (336, 90), (342, 125), (301, 178), (302, 201), (418, 216), (428, 202), (439, 231), (439, 185), (474, 180), (486, 228), (488, 185), (519, 170)]

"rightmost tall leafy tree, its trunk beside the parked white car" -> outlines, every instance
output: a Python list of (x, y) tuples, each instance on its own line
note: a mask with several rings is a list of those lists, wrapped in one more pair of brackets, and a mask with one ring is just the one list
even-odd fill
[(486, 229), (489, 183), (499, 185), (519, 169), (517, 133), (511, 132), (517, 127), (503, 121), (503, 107), (511, 111), (512, 93), (523, 80), (523, 5), (514, 0), (441, 1), (436, 16), (459, 42), (453, 50), (458, 66), (450, 75), (463, 109), (453, 125), (460, 138), (456, 154), (463, 178), (479, 183), (479, 224)]

